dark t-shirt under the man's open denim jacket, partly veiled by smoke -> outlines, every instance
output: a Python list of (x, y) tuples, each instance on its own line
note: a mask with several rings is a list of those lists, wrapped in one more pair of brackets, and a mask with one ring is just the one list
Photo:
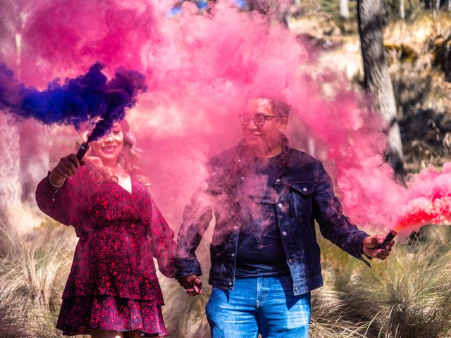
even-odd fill
[(252, 158), (243, 193), (247, 219), (240, 229), (236, 278), (288, 275), (290, 269), (283, 251), (276, 218), (277, 194), (273, 182), (280, 170), (281, 156)]

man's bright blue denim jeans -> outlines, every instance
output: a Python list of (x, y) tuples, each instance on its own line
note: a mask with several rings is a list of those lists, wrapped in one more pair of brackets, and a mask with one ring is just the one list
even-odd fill
[(211, 338), (308, 338), (310, 292), (295, 296), (291, 276), (235, 280), (206, 304)]

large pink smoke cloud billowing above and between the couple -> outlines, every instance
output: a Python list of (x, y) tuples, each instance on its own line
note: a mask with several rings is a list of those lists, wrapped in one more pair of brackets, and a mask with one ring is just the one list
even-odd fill
[[(345, 75), (309, 58), (295, 35), (260, 15), (221, 1), (214, 13), (198, 13), (185, 3), (177, 18), (166, 15), (170, 4), (164, 1), (22, 0), (23, 13), (15, 2), (6, 4), (8, 37), (20, 36), (20, 44), (5, 39), (0, 57), (20, 61), (20, 80), (43, 86), (94, 61), (134, 68), (151, 79), (139, 113), (129, 120), (144, 150), (154, 199), (173, 227), (204, 177), (207, 158), (240, 140), (236, 115), (245, 100), (262, 93), (292, 106), (292, 144), (314, 140), (312, 155), (324, 161), (355, 223), (382, 230), (411, 219), (421, 225), (449, 217), (445, 204), (438, 205), (448, 198), (451, 182), (440, 177), (449, 167), (440, 175), (421, 173), (402, 187), (383, 162), (385, 124), (368, 108), (369, 100), (348, 89)], [(433, 199), (431, 189), (440, 181), (443, 197)], [(420, 223), (403, 218), (420, 210), (434, 216)]]

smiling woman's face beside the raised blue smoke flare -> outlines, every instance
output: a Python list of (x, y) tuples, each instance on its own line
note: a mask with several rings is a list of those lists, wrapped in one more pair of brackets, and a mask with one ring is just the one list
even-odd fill
[(110, 132), (91, 143), (92, 154), (102, 162), (116, 161), (124, 145), (124, 134), (119, 123), (115, 123)]

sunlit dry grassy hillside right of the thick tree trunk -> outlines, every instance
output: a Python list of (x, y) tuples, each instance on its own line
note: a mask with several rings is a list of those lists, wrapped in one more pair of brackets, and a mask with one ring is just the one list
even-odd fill
[(451, 83), (443, 66), (451, 14), (420, 13), (386, 27), (390, 75), (399, 109), (408, 171), (443, 165), (451, 158)]

